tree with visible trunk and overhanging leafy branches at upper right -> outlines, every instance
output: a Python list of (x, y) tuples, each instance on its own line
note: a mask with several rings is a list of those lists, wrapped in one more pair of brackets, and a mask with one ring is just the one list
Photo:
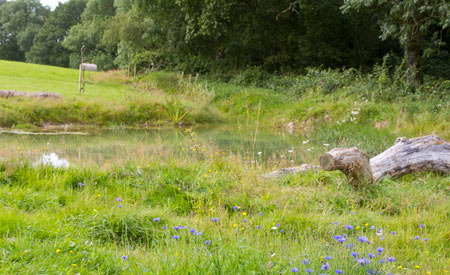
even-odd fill
[(448, 0), (345, 0), (343, 11), (377, 7), (381, 16), (381, 38), (393, 37), (403, 47), (405, 63), (408, 69), (408, 81), (415, 84), (418, 80), (420, 59), (430, 39), (430, 29), (450, 26), (450, 2)]

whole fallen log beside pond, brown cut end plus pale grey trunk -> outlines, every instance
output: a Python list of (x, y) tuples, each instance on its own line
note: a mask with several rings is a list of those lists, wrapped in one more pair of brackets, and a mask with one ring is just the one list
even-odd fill
[(320, 157), (320, 166), (326, 171), (342, 171), (354, 186), (414, 172), (450, 173), (450, 143), (436, 135), (413, 139), (401, 137), (370, 162), (356, 147), (336, 148)]

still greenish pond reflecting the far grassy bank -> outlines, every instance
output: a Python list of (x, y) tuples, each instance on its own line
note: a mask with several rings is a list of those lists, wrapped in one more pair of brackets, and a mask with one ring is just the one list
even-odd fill
[(240, 158), (249, 166), (317, 163), (326, 141), (282, 131), (208, 127), (169, 129), (81, 129), (88, 135), (0, 134), (0, 158), (29, 158), (56, 153), (76, 165), (146, 165), (179, 158)]

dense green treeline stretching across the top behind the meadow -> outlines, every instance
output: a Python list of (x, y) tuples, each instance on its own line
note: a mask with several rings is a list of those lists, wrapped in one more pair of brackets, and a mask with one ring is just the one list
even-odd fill
[(450, 77), (446, 0), (0, 0), (0, 59), (269, 72), (402, 64)]

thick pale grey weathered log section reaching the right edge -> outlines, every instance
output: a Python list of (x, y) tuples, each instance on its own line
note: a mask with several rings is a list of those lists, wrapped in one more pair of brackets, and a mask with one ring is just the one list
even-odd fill
[(436, 135), (398, 138), (394, 145), (370, 159), (375, 181), (421, 171), (450, 173), (450, 143)]

